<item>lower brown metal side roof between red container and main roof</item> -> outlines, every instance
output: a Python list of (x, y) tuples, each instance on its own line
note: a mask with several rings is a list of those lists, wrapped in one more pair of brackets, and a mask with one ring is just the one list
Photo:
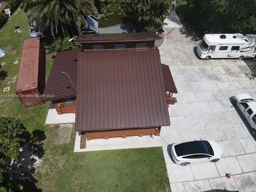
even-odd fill
[[(46, 96), (54, 95), (54, 97), (43, 97), (41, 98), (41, 101), (76, 96), (68, 76), (65, 74), (60, 74), (60, 72), (64, 71), (70, 76), (70, 79), (76, 89), (77, 58), (78, 52), (81, 52), (81, 50), (82, 49), (79, 48), (58, 52), (56, 54), (49, 78), (46, 83), (46, 87), (43, 92), (43, 94)], [(67, 88), (68, 86), (69, 89)]]

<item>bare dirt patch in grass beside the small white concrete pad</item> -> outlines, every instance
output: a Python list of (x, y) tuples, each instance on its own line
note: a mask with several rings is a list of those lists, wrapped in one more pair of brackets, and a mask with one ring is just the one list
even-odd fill
[(54, 143), (57, 145), (69, 143), (72, 128), (73, 128), (73, 124), (60, 124)]

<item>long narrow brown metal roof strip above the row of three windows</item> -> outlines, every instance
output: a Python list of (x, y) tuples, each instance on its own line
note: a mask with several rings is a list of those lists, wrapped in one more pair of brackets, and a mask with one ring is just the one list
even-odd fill
[(94, 37), (94, 34), (83, 34), (75, 40), (76, 43), (92, 42), (115, 42), (115, 41), (153, 41), (161, 39), (154, 33), (107, 33), (101, 34), (102, 37)]

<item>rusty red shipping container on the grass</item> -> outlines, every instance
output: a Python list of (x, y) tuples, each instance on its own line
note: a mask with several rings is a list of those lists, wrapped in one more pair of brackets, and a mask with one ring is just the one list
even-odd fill
[(41, 105), (46, 84), (46, 51), (39, 37), (25, 39), (21, 55), (16, 94), (24, 107)]

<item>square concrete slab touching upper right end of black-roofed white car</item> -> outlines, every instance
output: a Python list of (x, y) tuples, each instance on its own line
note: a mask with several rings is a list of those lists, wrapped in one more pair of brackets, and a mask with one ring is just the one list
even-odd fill
[(218, 142), (225, 157), (245, 154), (238, 139), (224, 140)]

